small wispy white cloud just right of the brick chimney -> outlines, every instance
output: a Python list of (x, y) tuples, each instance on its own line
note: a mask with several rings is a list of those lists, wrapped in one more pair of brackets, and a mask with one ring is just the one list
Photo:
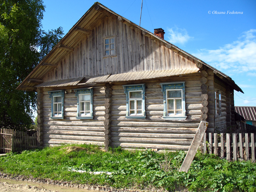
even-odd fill
[(188, 40), (194, 38), (188, 35), (186, 29), (173, 27), (168, 28), (167, 31), (168, 41), (172, 44), (185, 44), (186, 42), (188, 42)]

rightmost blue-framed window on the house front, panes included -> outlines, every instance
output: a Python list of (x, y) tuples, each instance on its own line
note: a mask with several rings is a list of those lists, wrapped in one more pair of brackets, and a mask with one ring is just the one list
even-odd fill
[(164, 95), (164, 119), (185, 120), (185, 82), (161, 83)]

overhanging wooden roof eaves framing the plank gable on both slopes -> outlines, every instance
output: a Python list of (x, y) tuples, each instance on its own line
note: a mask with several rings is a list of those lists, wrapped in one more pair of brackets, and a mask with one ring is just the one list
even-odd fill
[[(44, 59), (36, 66), (36, 68), (26, 77), (26, 79), (17, 87), (17, 89), (21, 89), (21, 86), (31, 86), (28, 84), (28, 79), (42, 79), (44, 75), (46, 75), (49, 70), (52, 69), (52, 66), (43, 65), (43, 63), (52, 63), (57, 65), (57, 63), (62, 60), (68, 52), (74, 51), (74, 47), (76, 44), (84, 38), (85, 35), (89, 35), (90, 31), (94, 26), (97, 24), (98, 21), (103, 19), (105, 16), (110, 17), (111, 15), (115, 15), (117, 20), (123, 22), (124, 24), (128, 25), (129, 27), (139, 28), (141, 33), (149, 38), (158, 41), (161, 41), (165, 44), (165, 46), (172, 51), (179, 53), (181, 55), (188, 56), (189, 58), (193, 59), (195, 63), (201, 63), (204, 66), (211, 68), (212, 70), (216, 71), (217, 74), (226, 78), (227, 82), (230, 85), (234, 86), (236, 91), (243, 92), (230, 77), (225, 75), (224, 73), (218, 71), (217, 69), (213, 68), (212, 66), (204, 63), (202, 60), (194, 57), (193, 55), (181, 50), (177, 46), (165, 41), (164, 39), (154, 35), (150, 31), (141, 28), (137, 24), (131, 22), (130, 20), (125, 19), (124, 17), (118, 15), (117, 13), (111, 11), (104, 5), (96, 2), (92, 5), (92, 7), (82, 16), (80, 20), (76, 22), (76, 24), (68, 31), (68, 33), (60, 40), (60, 42), (53, 47), (53, 49), (44, 57)], [(62, 49), (60, 49), (62, 48)], [(65, 49), (64, 49), (65, 48)], [(39, 73), (38, 73), (39, 72)]]

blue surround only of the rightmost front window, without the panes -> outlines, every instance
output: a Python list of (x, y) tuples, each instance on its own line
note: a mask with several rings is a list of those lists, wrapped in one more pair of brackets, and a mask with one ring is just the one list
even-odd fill
[[(167, 120), (185, 120), (187, 118), (186, 116), (186, 98), (185, 98), (185, 82), (166, 82), (166, 83), (160, 83), (162, 87), (162, 92), (164, 96), (164, 119)], [(166, 90), (168, 89), (182, 89), (182, 116), (167, 116), (167, 109), (166, 109)]]

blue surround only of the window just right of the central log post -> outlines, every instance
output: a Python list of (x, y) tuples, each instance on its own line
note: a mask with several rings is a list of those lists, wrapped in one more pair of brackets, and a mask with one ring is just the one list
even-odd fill
[[(145, 119), (145, 84), (123, 85), (126, 95), (126, 118), (127, 119)], [(129, 91), (142, 91), (142, 116), (129, 116)]]

